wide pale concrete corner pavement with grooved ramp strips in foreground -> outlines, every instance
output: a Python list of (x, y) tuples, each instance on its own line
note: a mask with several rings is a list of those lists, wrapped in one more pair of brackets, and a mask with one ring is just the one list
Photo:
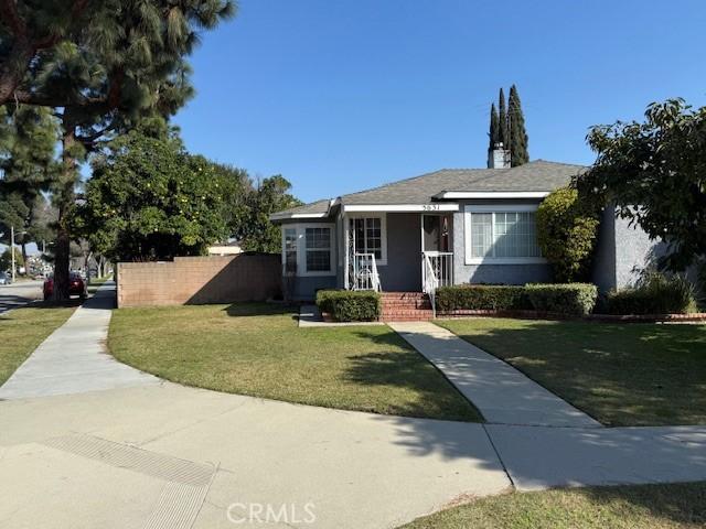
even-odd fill
[[(511, 487), (481, 424), (170, 382), (0, 402), (0, 527), (394, 528)], [(287, 518), (232, 521), (250, 506)]]

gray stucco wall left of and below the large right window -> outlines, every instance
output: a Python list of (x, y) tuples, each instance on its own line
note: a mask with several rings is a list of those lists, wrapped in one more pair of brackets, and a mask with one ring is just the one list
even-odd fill
[[(466, 201), (453, 214), (453, 282), (462, 283), (498, 283), (524, 284), (547, 282), (552, 280), (552, 268), (548, 264), (467, 264), (466, 263), (466, 205), (492, 205), (498, 202)], [(507, 204), (537, 204), (537, 201), (512, 201)]]

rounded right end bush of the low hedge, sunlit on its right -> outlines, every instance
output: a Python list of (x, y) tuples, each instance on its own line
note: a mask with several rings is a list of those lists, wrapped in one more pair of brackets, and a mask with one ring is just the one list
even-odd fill
[(526, 295), (535, 311), (573, 316), (590, 314), (596, 306), (598, 289), (590, 283), (526, 284)]

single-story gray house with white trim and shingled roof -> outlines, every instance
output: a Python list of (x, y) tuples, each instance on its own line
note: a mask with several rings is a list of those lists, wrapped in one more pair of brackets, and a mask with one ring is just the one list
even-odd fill
[[(552, 281), (535, 212), (587, 168), (545, 160), (510, 168), (503, 152), (491, 152), (489, 169), (443, 169), (271, 215), (281, 225), (289, 294)], [(606, 210), (593, 282), (602, 291), (632, 283), (654, 249), (643, 231)]]

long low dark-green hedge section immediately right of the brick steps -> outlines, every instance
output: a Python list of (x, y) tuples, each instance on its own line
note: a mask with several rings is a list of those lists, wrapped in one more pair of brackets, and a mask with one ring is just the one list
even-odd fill
[(437, 290), (439, 311), (489, 310), (516, 311), (532, 309), (524, 287), (498, 284), (461, 284)]

